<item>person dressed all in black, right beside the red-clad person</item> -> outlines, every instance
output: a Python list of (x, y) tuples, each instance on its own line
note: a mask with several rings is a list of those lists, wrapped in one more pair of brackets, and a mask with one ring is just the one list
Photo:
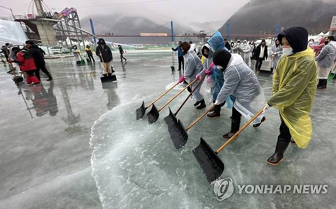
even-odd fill
[(39, 49), (39, 47), (37, 45), (35, 45), (34, 42), (31, 41), (31, 40), (26, 41), (26, 44), (27, 44), (27, 48), (29, 49), (29, 53), (34, 58), (34, 62), (35, 62), (35, 65), (36, 65), (35, 75), (38, 78), (38, 80), (41, 80), (40, 79), (40, 70), (48, 76), (47, 81), (53, 80), (52, 75), (45, 68), (45, 61), (44, 61), (44, 58), (43, 58), (44, 56), (41, 53), (41, 50)]

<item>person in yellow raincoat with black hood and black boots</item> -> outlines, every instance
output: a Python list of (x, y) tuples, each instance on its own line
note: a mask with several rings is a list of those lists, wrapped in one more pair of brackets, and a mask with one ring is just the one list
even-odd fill
[(273, 96), (265, 107), (277, 108), (281, 119), (275, 153), (267, 160), (271, 165), (283, 159), (291, 138), (299, 148), (307, 148), (312, 132), (309, 112), (317, 85), (317, 64), (313, 50), (307, 49), (307, 30), (292, 27), (281, 32), (278, 39), (283, 56), (273, 75)]

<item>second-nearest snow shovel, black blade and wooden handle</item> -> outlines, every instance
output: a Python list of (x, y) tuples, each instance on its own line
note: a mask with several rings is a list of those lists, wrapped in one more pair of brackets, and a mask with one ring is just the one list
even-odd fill
[(210, 110), (214, 107), (212, 105), (209, 109), (207, 109), (203, 114), (200, 115), (193, 123), (191, 123), (187, 128), (184, 128), (182, 122), (180, 120), (177, 123), (172, 124), (173, 126), (168, 129), (171, 134), (171, 139), (176, 149), (179, 149), (187, 143), (188, 134), (187, 131), (193, 127), (197, 122), (199, 122)]

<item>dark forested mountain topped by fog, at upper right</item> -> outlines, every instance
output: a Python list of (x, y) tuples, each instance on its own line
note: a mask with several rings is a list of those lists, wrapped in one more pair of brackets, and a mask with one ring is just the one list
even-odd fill
[(230, 33), (274, 33), (275, 26), (302, 26), (309, 34), (327, 31), (336, 15), (336, 1), (252, 0), (234, 13), (220, 29)]

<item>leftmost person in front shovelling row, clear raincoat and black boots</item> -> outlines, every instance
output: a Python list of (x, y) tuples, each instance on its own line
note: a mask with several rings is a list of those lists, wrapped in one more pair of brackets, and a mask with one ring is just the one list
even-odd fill
[[(196, 79), (197, 74), (199, 74), (201, 71), (203, 71), (203, 66), (201, 59), (197, 56), (196, 52), (194, 51), (193, 45), (190, 45), (188, 42), (183, 42), (180, 44), (181, 51), (184, 55), (184, 74), (182, 74), (179, 83), (182, 83), (184, 80), (186, 80), (188, 83)], [(200, 81), (198, 81), (200, 82)], [(195, 82), (193, 85), (191, 85), (191, 88), (194, 89), (194, 87), (198, 84), (198, 82)], [(196, 99), (196, 103), (194, 106), (197, 106), (197, 109), (203, 109), (206, 107), (204, 97), (200, 92), (200, 89), (202, 87), (202, 84), (194, 91), (193, 96)]]

